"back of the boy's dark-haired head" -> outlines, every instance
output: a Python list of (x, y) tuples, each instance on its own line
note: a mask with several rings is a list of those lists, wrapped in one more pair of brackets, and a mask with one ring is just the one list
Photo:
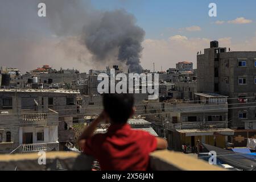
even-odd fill
[(104, 94), (103, 105), (113, 124), (126, 123), (133, 112), (133, 94)]

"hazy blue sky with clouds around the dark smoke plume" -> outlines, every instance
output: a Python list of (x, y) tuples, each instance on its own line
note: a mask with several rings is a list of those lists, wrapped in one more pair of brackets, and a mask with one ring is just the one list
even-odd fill
[[(75, 34), (68, 32), (70, 27), (79, 31), (80, 21), (86, 23), (92, 19), (82, 13), (90, 9), (95, 12), (124, 9), (134, 15), (137, 25), (146, 32), (141, 63), (147, 69), (152, 69), (153, 62), (156, 69), (161, 66), (168, 69), (183, 60), (192, 61), (196, 66), (197, 51), (208, 48), (210, 40), (219, 40), (221, 47), (230, 47), (233, 51), (256, 51), (254, 0), (93, 0), (91, 3), (85, 0), (77, 11), (78, 17), (84, 17), (78, 18), (77, 24), (69, 20), (69, 13), (73, 11), (65, 7), (61, 12), (62, 18), (68, 19), (65, 23), (69, 23), (67, 32), (61, 35), (54, 33), (62, 28), (58, 24), (61, 22), (52, 22), (47, 19), (49, 16), (36, 16), (38, 2), (46, 2), (47, 9), (55, 11), (52, 3), (43, 0), (0, 0), (0, 65), (18, 67), (23, 72), (43, 64), (80, 71), (105, 67), (93, 64), (90, 52), (77, 43)], [(210, 2), (217, 4), (217, 17), (208, 15)], [(58, 11), (61, 7), (56, 5)]]

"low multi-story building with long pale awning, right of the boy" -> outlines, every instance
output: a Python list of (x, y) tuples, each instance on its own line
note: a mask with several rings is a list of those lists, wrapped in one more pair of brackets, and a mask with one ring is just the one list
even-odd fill
[(174, 150), (181, 150), (182, 144), (195, 148), (197, 139), (224, 148), (230, 140), (228, 136), (234, 135), (228, 128), (227, 98), (195, 93), (194, 101), (145, 104), (144, 115), (160, 132), (159, 136), (166, 136)]

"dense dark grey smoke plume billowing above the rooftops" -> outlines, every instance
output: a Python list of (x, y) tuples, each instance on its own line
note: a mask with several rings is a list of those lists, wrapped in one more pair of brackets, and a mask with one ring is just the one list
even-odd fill
[(140, 57), (145, 32), (136, 26), (133, 15), (125, 10), (103, 13), (84, 27), (86, 47), (96, 60), (105, 60), (117, 51), (117, 60), (125, 63), (130, 72), (141, 73)]

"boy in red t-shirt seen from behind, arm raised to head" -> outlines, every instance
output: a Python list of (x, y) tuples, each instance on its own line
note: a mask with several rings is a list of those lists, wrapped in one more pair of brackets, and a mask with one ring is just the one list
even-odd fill
[[(149, 154), (167, 148), (165, 139), (132, 130), (127, 124), (134, 114), (133, 104), (132, 94), (104, 94), (104, 111), (79, 138), (84, 153), (94, 156), (104, 171), (146, 171)], [(110, 122), (108, 132), (93, 135), (102, 121)]]

